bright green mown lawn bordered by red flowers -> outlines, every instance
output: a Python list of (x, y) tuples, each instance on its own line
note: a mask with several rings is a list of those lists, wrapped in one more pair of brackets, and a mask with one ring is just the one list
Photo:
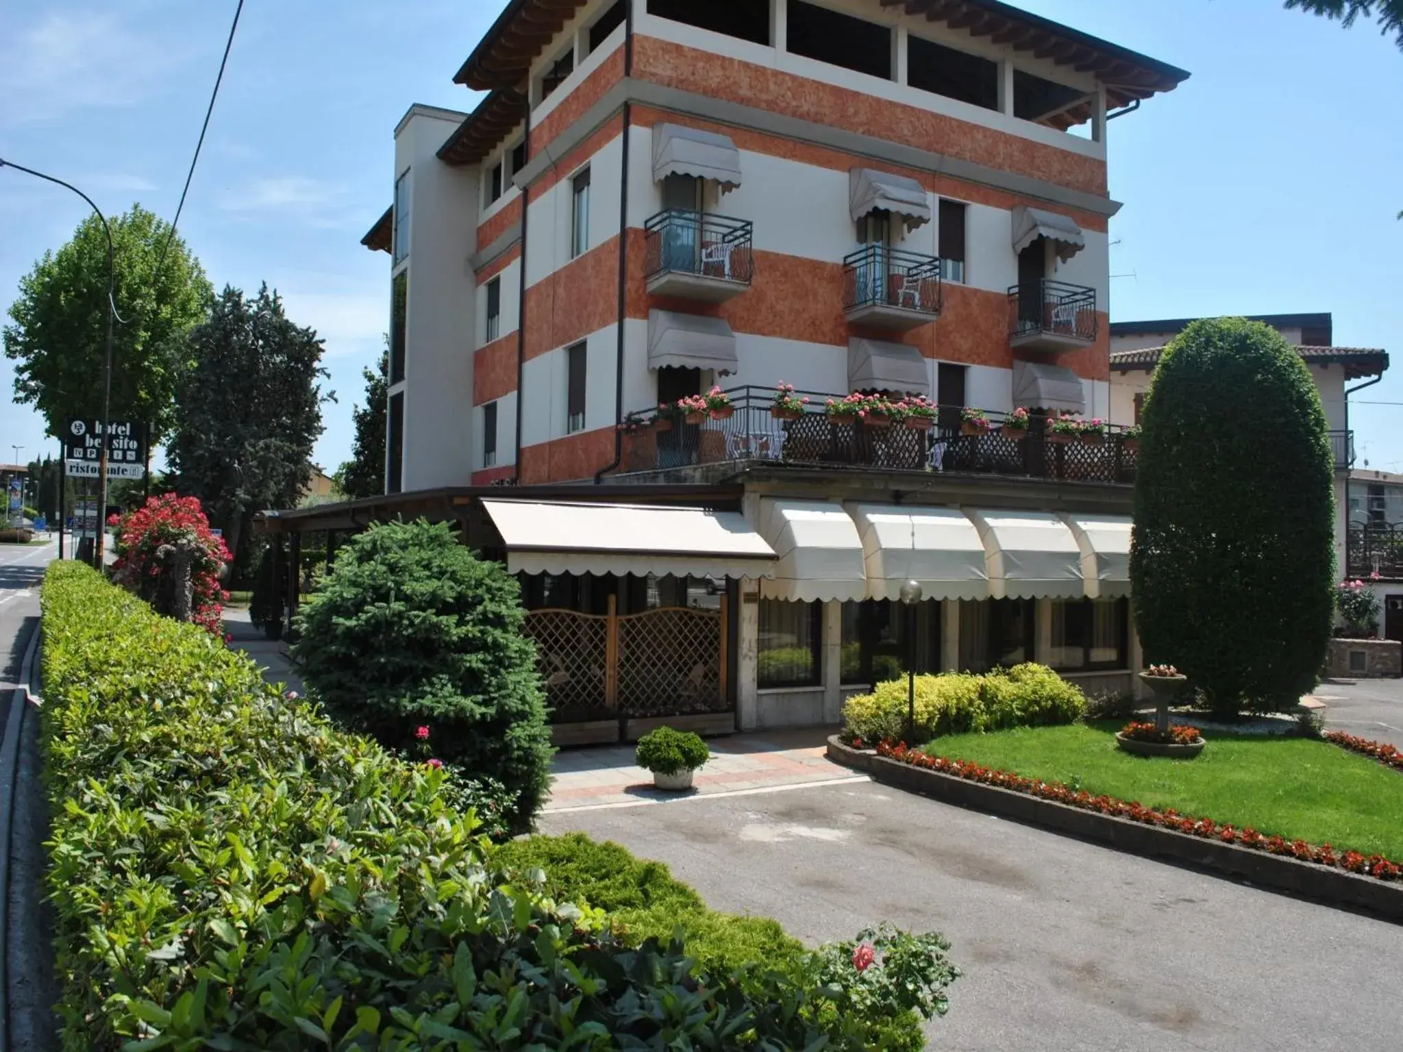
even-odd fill
[(1205, 734), (1194, 760), (1115, 748), (1120, 722), (937, 738), (926, 750), (1288, 840), (1403, 858), (1403, 773), (1327, 742)]

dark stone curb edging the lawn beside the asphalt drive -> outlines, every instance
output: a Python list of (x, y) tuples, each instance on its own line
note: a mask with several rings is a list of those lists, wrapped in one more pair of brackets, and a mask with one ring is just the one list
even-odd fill
[(1179, 863), (1216, 877), (1244, 881), (1329, 906), (1361, 910), (1396, 924), (1403, 923), (1403, 885), (1386, 884), (1376, 877), (1207, 840), (1173, 829), (1040, 800), (999, 785), (985, 785), (954, 774), (912, 767), (909, 763), (898, 763), (871, 750), (853, 749), (836, 736), (828, 739), (828, 759), (866, 771), (887, 785), (933, 797), (946, 804), (1012, 818), (1082, 840), (1108, 844), (1129, 854)]

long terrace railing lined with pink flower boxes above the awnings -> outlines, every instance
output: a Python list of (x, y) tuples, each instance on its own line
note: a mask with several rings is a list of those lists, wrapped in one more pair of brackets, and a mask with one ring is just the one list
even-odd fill
[[(835, 424), (825, 412), (836, 394), (808, 393), (797, 419), (772, 414), (773, 391), (737, 387), (728, 391), (732, 414), (697, 424), (675, 421), (665, 431), (638, 428), (623, 436), (623, 471), (655, 471), (728, 461), (760, 461), (807, 467), (860, 467), (891, 471), (941, 471), (1129, 484), (1135, 480), (1138, 442), (1120, 429), (1097, 442), (1051, 442), (1042, 421), (1014, 438), (1000, 431), (1003, 414), (986, 414), (993, 428), (961, 433), (961, 407), (944, 407), (948, 421), (929, 431), (905, 424)], [(805, 393), (798, 391), (800, 397)], [(640, 414), (650, 415), (650, 414)]]

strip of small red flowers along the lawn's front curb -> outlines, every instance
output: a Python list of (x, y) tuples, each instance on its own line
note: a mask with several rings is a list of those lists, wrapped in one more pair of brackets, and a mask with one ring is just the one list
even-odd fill
[(1260, 833), (1246, 826), (1236, 828), (1230, 823), (1218, 823), (1211, 818), (1194, 818), (1181, 815), (1173, 808), (1148, 808), (1136, 801), (1118, 800), (1107, 795), (1092, 795), (1086, 790), (1073, 790), (1058, 781), (1044, 781), (1041, 778), (1027, 778), (1013, 771), (984, 767), (968, 760), (950, 759), (946, 756), (932, 756), (922, 749), (912, 749), (905, 742), (892, 745), (882, 742), (877, 746), (877, 755), (897, 763), (912, 767), (939, 771), (968, 781), (978, 781), (985, 785), (998, 785), (1013, 793), (1023, 793), (1040, 800), (1094, 811), (1100, 815), (1124, 818), (1131, 822), (1170, 829), (1176, 833), (1216, 840), (1225, 844), (1236, 844), (1267, 854), (1289, 856), (1298, 861), (1315, 863), (1324, 867), (1334, 867), (1357, 874), (1368, 874), (1381, 881), (1403, 879), (1403, 864), (1390, 861), (1381, 854), (1364, 856), (1358, 851), (1337, 851), (1330, 844), (1310, 844), (1305, 840), (1287, 840), (1281, 836)]

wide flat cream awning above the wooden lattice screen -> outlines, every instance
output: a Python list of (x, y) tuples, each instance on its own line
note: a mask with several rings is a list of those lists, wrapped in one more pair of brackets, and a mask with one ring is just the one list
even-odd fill
[(623, 504), (483, 501), (512, 574), (760, 578), (774, 551), (739, 512)]

